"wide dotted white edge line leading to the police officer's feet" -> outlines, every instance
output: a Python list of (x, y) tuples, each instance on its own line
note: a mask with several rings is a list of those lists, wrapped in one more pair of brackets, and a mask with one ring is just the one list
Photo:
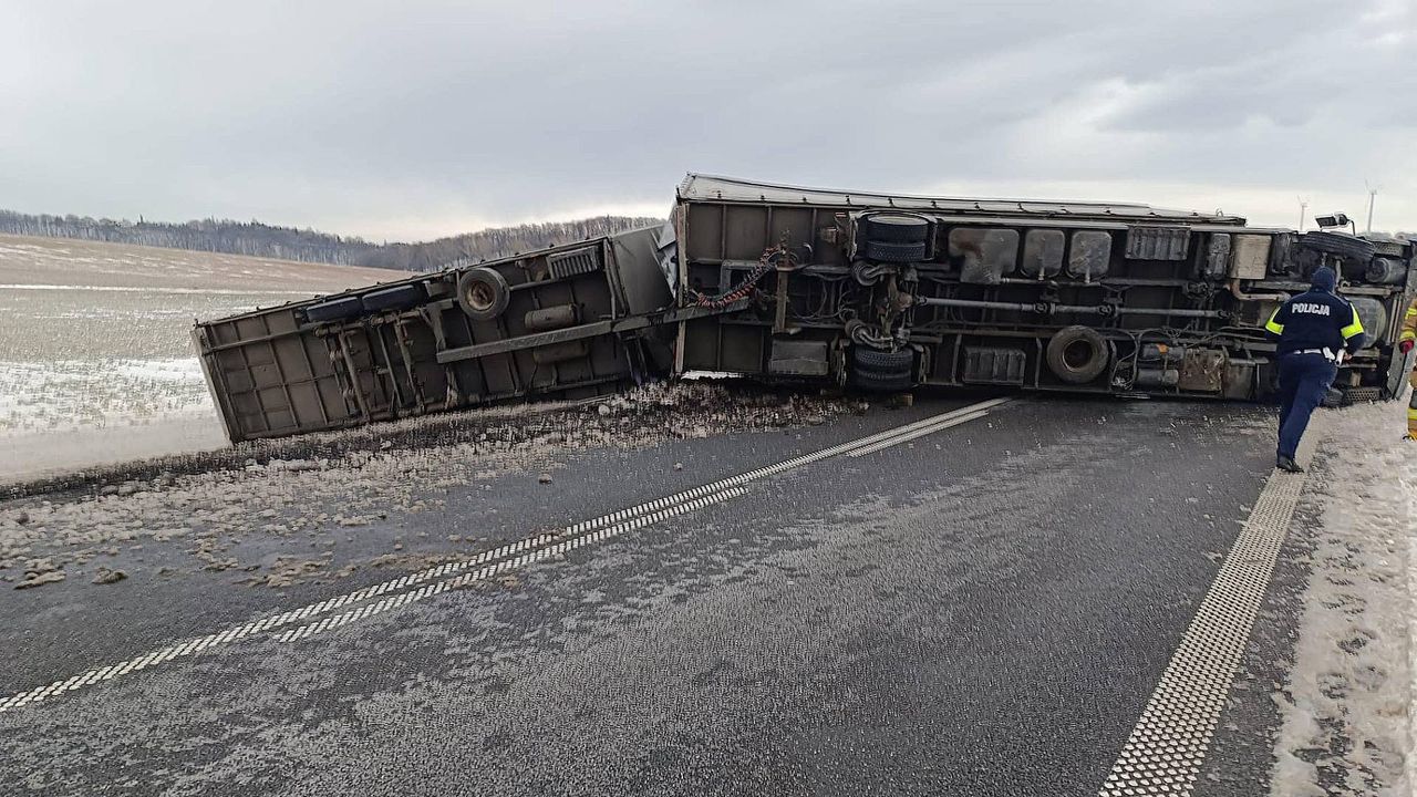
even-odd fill
[[(1322, 428), (1311, 425), (1299, 445), (1301, 459), (1312, 458), (1321, 437)], [(1275, 471), (1265, 481), (1244, 529), (1098, 790), (1101, 797), (1187, 796), (1195, 788), (1305, 479), (1304, 474)]]

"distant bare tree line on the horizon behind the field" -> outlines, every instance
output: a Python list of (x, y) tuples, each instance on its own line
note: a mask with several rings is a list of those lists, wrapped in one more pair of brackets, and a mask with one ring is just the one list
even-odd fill
[(275, 227), (259, 221), (204, 218), (180, 224), (24, 214), (0, 210), (0, 233), (47, 238), (78, 238), (143, 247), (237, 255), (431, 271), (459, 258), (483, 260), (581, 241), (657, 224), (657, 218), (601, 216), (577, 221), (493, 227), (417, 244), (371, 244), (359, 237)]

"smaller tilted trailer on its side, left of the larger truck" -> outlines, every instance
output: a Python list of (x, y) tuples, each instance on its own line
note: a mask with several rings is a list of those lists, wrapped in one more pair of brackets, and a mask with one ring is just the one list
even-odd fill
[(669, 369), (657, 230), (638, 230), (198, 323), (232, 442), (523, 397), (578, 398)]

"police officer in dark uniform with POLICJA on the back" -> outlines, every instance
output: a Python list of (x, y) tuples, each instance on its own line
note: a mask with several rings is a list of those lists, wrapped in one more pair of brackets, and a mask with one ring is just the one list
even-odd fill
[(1275, 467), (1291, 474), (1304, 468), (1294, 461), (1309, 416), (1338, 376), (1345, 350), (1363, 345), (1363, 322), (1353, 305), (1333, 294), (1338, 277), (1329, 267), (1314, 272), (1306, 292), (1274, 311), (1264, 330), (1278, 340), (1280, 448)]

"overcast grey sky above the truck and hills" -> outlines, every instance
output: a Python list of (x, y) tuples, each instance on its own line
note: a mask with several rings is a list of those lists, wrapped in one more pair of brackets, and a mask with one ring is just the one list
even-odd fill
[(0, 0), (0, 207), (373, 240), (686, 172), (1417, 230), (1417, 0)]

